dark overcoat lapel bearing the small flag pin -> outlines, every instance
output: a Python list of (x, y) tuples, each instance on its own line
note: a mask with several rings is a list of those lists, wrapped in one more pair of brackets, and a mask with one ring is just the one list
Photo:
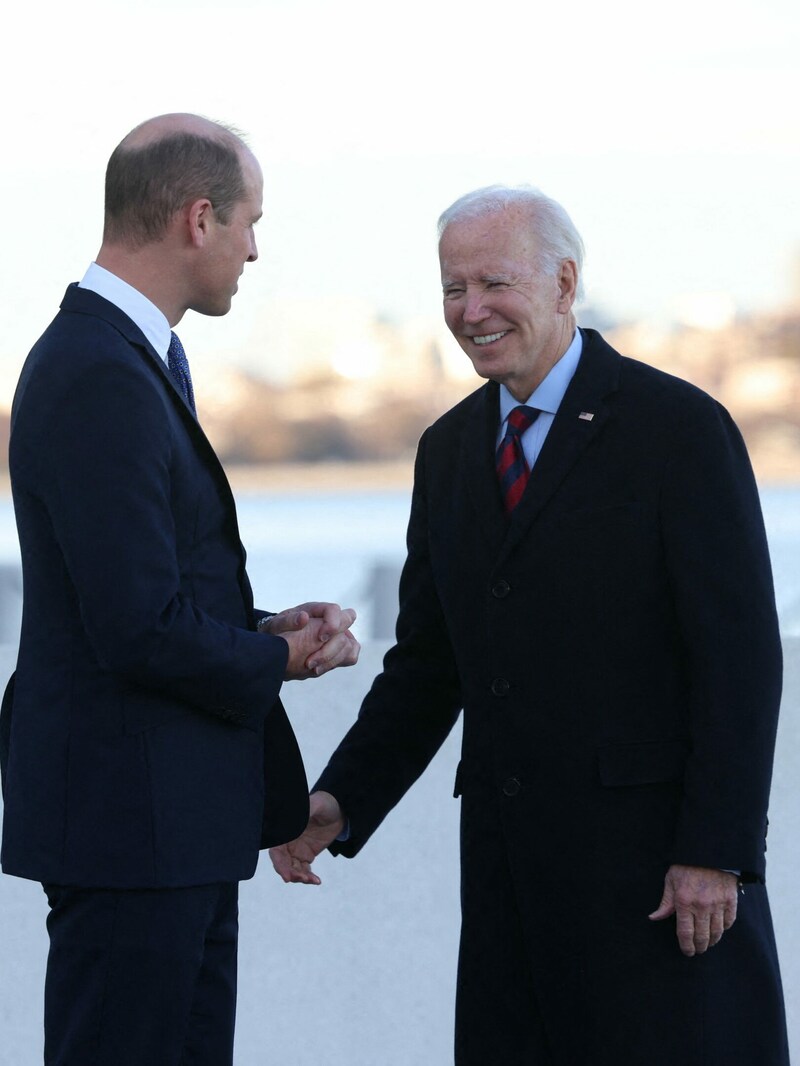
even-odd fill
[(578, 369), (561, 401), (525, 494), (508, 523), (503, 554), (525, 536), (610, 417), (606, 398), (618, 388), (620, 356), (595, 330), (581, 332), (583, 351)]

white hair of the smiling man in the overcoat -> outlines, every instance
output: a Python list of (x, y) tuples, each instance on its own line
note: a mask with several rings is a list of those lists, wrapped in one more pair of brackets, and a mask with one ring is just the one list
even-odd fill
[(577, 266), (576, 298), (583, 296), (583, 242), (570, 215), (556, 200), (533, 185), (486, 185), (459, 197), (438, 217), (438, 239), (453, 222), (482, 219), (489, 214), (522, 207), (530, 219), (537, 241), (537, 262), (545, 274), (555, 276), (564, 259)]

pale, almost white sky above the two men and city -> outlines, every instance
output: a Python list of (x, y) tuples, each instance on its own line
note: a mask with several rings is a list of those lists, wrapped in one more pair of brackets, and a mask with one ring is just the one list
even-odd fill
[(187, 317), (193, 359), (246, 352), (279, 377), (293, 322), (324, 328), (330, 313), (341, 330), (351, 303), (437, 319), (435, 220), (495, 181), (564, 205), (587, 245), (589, 300), (611, 312), (659, 322), (687, 296), (713, 307), (720, 293), (742, 309), (785, 306), (800, 289), (799, 11), (796, 0), (20, 5), (0, 62), (0, 375), (16, 376), (99, 247), (109, 154), (167, 111), (237, 125), (266, 180), (259, 261), (228, 317)]

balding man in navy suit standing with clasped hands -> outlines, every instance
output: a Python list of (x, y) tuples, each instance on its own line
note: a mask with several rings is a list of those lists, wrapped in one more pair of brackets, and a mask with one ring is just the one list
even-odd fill
[(351, 610), (254, 609), (172, 333), (187, 310), (229, 310), (261, 190), (227, 128), (133, 130), (109, 162), (97, 261), (14, 401), (25, 599), (2, 866), (50, 903), (52, 1066), (231, 1062), (238, 882), (307, 818), (281, 685), (357, 659)]

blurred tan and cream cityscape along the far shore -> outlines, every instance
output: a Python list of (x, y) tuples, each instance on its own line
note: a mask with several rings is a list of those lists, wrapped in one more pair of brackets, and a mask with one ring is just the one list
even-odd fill
[[(226, 353), (194, 370), (201, 421), (223, 463), (409, 463), (426, 425), (480, 384), (435, 321), (396, 323), (354, 304), (322, 330), (308, 325), (310, 308), (300, 311), (291, 318), (304, 332), (268, 335), (265, 324), (246, 362)], [(578, 309), (578, 322), (623, 355), (716, 397), (741, 429), (759, 480), (800, 482), (800, 303), (743, 314), (707, 294), (685, 301), (669, 324), (614, 322), (591, 307)], [(275, 351), (279, 382), (253, 354)], [(3, 461), (7, 423), (0, 411)]]

